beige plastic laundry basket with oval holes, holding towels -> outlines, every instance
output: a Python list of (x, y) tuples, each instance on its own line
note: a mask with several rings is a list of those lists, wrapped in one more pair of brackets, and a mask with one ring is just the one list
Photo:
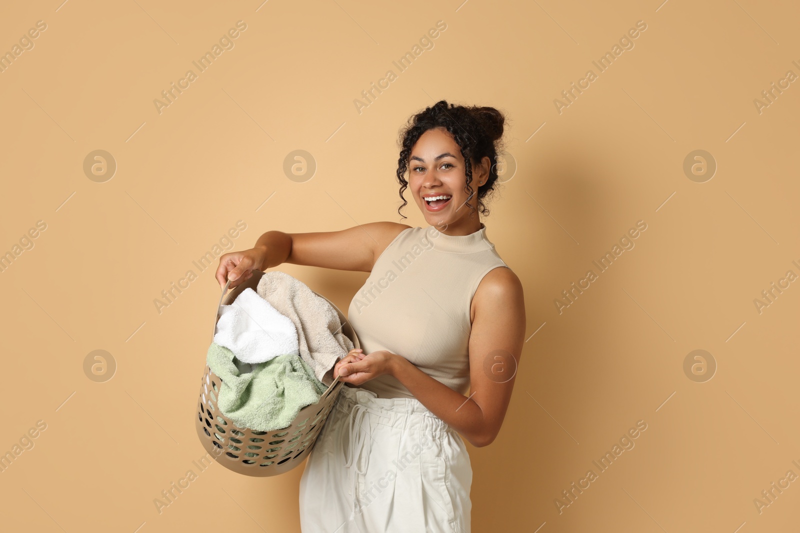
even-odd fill
[[(226, 295), (225, 292), (230, 285), (228, 280), (217, 307), (212, 341), (222, 305), (230, 305), (246, 288), (255, 291), (263, 275), (264, 272), (253, 270), (253, 276), (250, 276), (249, 280), (239, 284)], [(325, 298), (317, 292), (314, 294)], [(345, 316), (333, 302), (327, 298), (325, 300), (336, 309), (339, 321), (344, 324), (342, 333), (353, 341), (355, 348), (360, 348), (358, 337)], [(325, 424), (339, 392), (345, 385), (337, 377), (326, 392), (322, 393), (316, 404), (300, 410), (290, 426), (271, 432), (259, 432), (250, 428), (240, 428), (219, 411), (216, 403), (221, 384), (222, 380), (211, 372), (206, 364), (198, 395), (199, 410), (194, 420), (198, 437), (206, 451), (222, 466), (239, 474), (259, 477), (282, 474), (302, 463), (302, 459), (305, 459), (314, 447), (317, 436), (322, 431), (322, 425)]]

